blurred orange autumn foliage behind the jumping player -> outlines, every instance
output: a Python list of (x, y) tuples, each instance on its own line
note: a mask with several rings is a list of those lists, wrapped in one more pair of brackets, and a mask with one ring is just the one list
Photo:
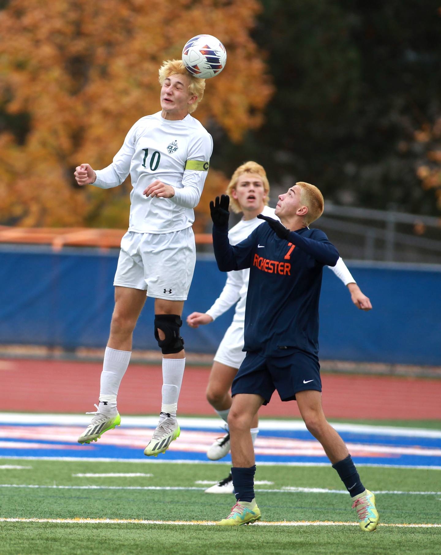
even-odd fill
[[(228, 62), (194, 116), (235, 142), (258, 127), (272, 93), (250, 38), (258, 11), (257, 0), (11, 0), (0, 11), (0, 109), (29, 124), (23, 137), (0, 129), (0, 223), (126, 226), (129, 179), (80, 189), (74, 168), (108, 165), (132, 124), (159, 110), (159, 65), (195, 34), (220, 38)], [(209, 171), (196, 230), (227, 178)]]

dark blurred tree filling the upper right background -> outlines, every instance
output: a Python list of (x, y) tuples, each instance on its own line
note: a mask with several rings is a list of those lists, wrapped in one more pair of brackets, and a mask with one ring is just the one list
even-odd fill
[(439, 1), (261, 3), (253, 37), (276, 92), (263, 126), (222, 142), (213, 165), (257, 159), (273, 195), (306, 180), (338, 204), (439, 213), (415, 134), (441, 113)]

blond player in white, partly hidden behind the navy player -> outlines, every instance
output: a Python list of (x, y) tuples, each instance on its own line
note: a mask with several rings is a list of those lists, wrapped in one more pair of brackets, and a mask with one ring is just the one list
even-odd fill
[[(267, 174), (261, 165), (255, 162), (247, 162), (239, 166), (234, 171), (226, 192), (230, 197), (230, 206), (233, 210), (236, 213), (243, 212), (242, 220), (228, 232), (230, 244), (237, 245), (240, 241), (246, 239), (258, 225), (262, 224), (264, 220), (259, 220), (257, 218), (258, 214), (277, 219), (277, 216), (274, 215), (274, 208), (267, 206), (269, 183)], [(355, 283), (341, 258), (337, 265), (329, 266), (329, 268), (348, 287), (355, 306), (361, 310), (372, 309), (368, 297), (360, 291), (359, 286)], [(225, 332), (216, 355), (214, 355), (207, 386), (207, 400), (225, 422), (227, 422), (232, 403), (230, 387), (239, 366), (245, 358), (245, 352), (242, 349), (244, 345), (243, 334), (248, 279), (249, 269), (228, 272), (225, 286), (213, 306), (204, 313), (192, 312), (187, 317), (187, 324), (191, 327), (209, 324), (237, 302), (233, 322)], [(256, 415), (251, 428), (253, 445), (258, 432), (258, 417)], [(216, 461), (227, 455), (229, 450), (229, 433), (227, 433), (213, 443), (207, 452), (207, 456), (209, 459)], [(209, 487), (206, 493), (233, 493), (231, 475), (218, 484)]]

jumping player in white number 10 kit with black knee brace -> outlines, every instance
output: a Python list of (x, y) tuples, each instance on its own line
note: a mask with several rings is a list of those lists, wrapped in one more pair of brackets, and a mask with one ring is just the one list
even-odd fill
[(154, 297), (154, 335), (162, 349), (163, 387), (158, 426), (145, 455), (165, 452), (180, 433), (176, 420), (185, 366), (183, 302), (193, 278), (196, 248), (192, 224), (213, 150), (211, 135), (189, 115), (203, 97), (205, 80), (181, 60), (159, 69), (161, 112), (139, 119), (111, 165), (76, 168), (79, 185), (107, 189), (132, 180), (129, 229), (113, 285), (115, 307), (104, 354), (99, 406), (79, 443), (97, 441), (119, 425), (117, 393), (132, 350), (132, 333), (147, 296)]

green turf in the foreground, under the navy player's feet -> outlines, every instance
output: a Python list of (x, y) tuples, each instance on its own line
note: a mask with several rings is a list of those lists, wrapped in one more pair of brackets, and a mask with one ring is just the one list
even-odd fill
[[(196, 483), (223, 478), (227, 465), (0, 460), (0, 466), (6, 465), (31, 468), (0, 468), (2, 518), (216, 521), (234, 504), (233, 496), (204, 494), (207, 485)], [(87, 473), (152, 476), (73, 476)], [(441, 528), (384, 526), (440, 524), (441, 471), (363, 467), (360, 475), (376, 492), (420, 493), (377, 493), (383, 526), (374, 533), (345, 524), (224, 529), (202, 524), (2, 521), (0, 554), (441, 553)], [(332, 468), (260, 466), (256, 480), (272, 482), (256, 486), (263, 521), (355, 521), (347, 493), (259, 491), (342, 490)], [(170, 487), (183, 489), (166, 489)]]

